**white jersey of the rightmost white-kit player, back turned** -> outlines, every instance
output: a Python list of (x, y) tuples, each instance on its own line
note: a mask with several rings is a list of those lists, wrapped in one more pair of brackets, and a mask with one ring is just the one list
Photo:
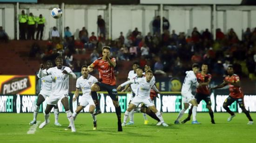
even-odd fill
[(194, 71), (186, 71), (186, 78), (182, 84), (182, 92), (187, 93), (192, 91), (192, 86), (198, 86), (198, 82), (195, 76)]

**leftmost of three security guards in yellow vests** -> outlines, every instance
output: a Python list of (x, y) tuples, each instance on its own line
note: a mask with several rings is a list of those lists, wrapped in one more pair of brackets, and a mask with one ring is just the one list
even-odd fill
[(19, 30), (20, 30), (20, 39), (26, 40), (26, 32), (27, 32), (27, 14), (22, 10), (19, 15)]

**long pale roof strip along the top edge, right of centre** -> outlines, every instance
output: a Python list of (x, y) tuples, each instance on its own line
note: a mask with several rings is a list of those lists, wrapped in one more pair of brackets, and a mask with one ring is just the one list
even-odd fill
[(141, 0), (141, 4), (165, 5), (240, 5), (242, 0)]

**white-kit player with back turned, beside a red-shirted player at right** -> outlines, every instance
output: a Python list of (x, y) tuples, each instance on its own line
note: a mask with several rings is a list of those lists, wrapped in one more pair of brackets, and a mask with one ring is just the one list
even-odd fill
[(184, 112), (189, 108), (189, 103), (193, 105), (192, 109), (192, 115), (193, 115), (193, 121), (192, 124), (199, 124), (196, 120), (196, 108), (197, 108), (197, 102), (192, 94), (192, 85), (195, 85), (196, 87), (201, 86), (201, 85), (207, 85), (206, 83), (198, 83), (197, 78), (195, 74), (199, 71), (199, 65), (198, 64), (193, 64), (192, 65), (192, 70), (193, 71), (186, 71), (186, 78), (184, 79), (184, 82), (182, 84), (182, 101), (184, 104), (184, 109), (182, 109), (175, 120), (175, 124), (180, 123), (180, 119), (183, 116)]

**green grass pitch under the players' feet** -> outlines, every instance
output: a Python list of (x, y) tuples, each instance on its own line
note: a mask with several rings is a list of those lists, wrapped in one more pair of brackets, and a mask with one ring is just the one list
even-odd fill
[[(188, 114), (184, 114), (185, 118)], [(123, 116), (123, 113), (122, 113)], [(148, 116), (147, 116), (148, 117)], [(135, 113), (135, 125), (123, 127), (123, 132), (117, 132), (115, 113), (104, 113), (97, 116), (98, 129), (93, 129), (92, 117), (81, 113), (75, 120), (77, 132), (64, 130), (68, 125), (65, 113), (61, 113), (59, 122), (62, 126), (54, 126), (54, 114), (51, 113), (51, 123), (43, 129), (36, 129), (35, 134), (27, 134), (31, 126), (32, 113), (0, 114), (0, 141), (6, 142), (95, 142), (95, 143), (255, 143), (256, 125), (247, 125), (245, 114), (236, 113), (231, 122), (227, 122), (228, 113), (215, 113), (216, 124), (210, 123), (208, 113), (198, 113), (197, 119), (202, 124), (173, 124), (177, 113), (164, 113), (163, 117), (169, 127), (155, 126), (155, 121), (149, 118), (149, 124), (144, 125), (141, 113)], [(256, 113), (251, 113), (256, 119)], [(43, 122), (43, 114), (38, 115), (38, 121)]]

